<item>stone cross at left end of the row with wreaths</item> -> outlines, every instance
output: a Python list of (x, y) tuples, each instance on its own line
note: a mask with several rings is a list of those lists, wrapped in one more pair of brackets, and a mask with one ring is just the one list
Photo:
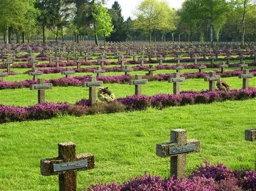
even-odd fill
[(52, 89), (51, 83), (44, 83), (43, 78), (38, 78), (38, 84), (30, 84), (30, 90), (37, 90), (38, 91), (38, 104), (45, 103), (45, 90)]

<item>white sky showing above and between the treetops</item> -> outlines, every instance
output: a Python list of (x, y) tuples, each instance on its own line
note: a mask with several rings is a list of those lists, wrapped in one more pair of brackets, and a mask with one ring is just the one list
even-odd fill
[[(107, 1), (107, 8), (111, 8), (115, 0), (108, 0)], [(117, 0), (119, 5), (121, 5), (122, 14), (124, 20), (126, 20), (129, 16), (133, 17), (133, 10), (139, 5), (141, 0)], [(179, 9), (182, 3), (185, 0), (166, 0), (169, 2), (170, 7), (174, 9)]]

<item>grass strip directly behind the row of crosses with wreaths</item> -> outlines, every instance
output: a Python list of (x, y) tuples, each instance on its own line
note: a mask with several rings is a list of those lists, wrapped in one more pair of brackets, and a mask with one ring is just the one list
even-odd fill
[[(228, 82), (232, 89), (240, 89), (242, 87), (242, 79), (238, 77), (223, 78)], [(249, 81), (250, 86), (256, 87), (256, 78)], [(126, 97), (134, 94), (134, 86), (128, 84), (104, 84), (104, 87), (109, 86), (109, 89), (114, 92), (116, 97)], [(204, 79), (188, 79), (180, 83), (180, 90), (195, 90), (201, 91), (209, 88), (209, 82), (204, 82)], [(37, 91), (31, 91), (29, 88), (8, 89), (0, 91), (1, 104), (5, 105), (35, 105), (37, 103)], [(142, 86), (142, 93), (153, 96), (160, 93), (172, 93), (173, 85), (168, 82), (149, 82)], [(52, 90), (46, 90), (46, 100), (52, 102), (69, 102), (74, 104), (82, 98), (89, 98), (89, 88), (83, 87), (53, 87)]]

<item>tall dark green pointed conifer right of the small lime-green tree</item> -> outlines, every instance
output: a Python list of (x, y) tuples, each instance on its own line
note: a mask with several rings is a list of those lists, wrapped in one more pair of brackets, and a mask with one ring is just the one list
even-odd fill
[(127, 29), (126, 24), (123, 22), (123, 16), (121, 14), (122, 10), (117, 1), (112, 5), (112, 9), (109, 9), (109, 14), (112, 18), (112, 24), (114, 25), (114, 30), (109, 37), (106, 38), (107, 41), (126, 41), (127, 39)]

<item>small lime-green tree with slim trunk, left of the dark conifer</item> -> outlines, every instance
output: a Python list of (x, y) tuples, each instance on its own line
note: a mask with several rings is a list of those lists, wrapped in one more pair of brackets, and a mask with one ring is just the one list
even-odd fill
[(106, 36), (109, 36), (110, 33), (113, 31), (114, 26), (111, 24), (111, 17), (108, 14), (108, 9), (103, 7), (102, 3), (97, 5), (94, 4), (96, 13), (92, 13), (93, 17), (95, 18), (96, 28), (94, 33), (96, 35), (104, 36), (104, 47)]

